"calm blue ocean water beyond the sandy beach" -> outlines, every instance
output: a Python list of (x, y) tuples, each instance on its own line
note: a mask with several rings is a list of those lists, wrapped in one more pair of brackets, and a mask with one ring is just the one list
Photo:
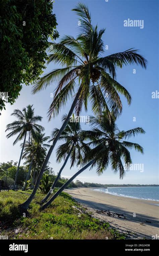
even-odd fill
[[(106, 193), (106, 189), (95, 190)], [(159, 201), (159, 187), (108, 187), (107, 193), (116, 196)]]

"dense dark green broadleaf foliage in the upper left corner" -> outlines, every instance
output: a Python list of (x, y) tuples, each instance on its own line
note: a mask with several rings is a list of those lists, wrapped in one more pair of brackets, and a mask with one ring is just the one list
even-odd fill
[(0, 1), (0, 110), (15, 102), (22, 83), (35, 82), (46, 68), (48, 38), (58, 37), (52, 9), (50, 0)]

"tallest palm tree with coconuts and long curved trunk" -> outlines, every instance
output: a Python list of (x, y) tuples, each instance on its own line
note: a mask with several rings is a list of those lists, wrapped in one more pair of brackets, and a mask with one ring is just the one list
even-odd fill
[(137, 64), (146, 68), (147, 65), (146, 59), (138, 54), (138, 50), (133, 49), (101, 57), (104, 52), (102, 35), (105, 29), (98, 31), (98, 27), (91, 24), (91, 15), (85, 4), (78, 3), (73, 11), (80, 16), (80, 33), (77, 38), (66, 35), (59, 43), (50, 43), (48, 63), (57, 63), (62, 68), (52, 70), (44, 75), (34, 85), (33, 93), (45, 89), (53, 82), (58, 83), (48, 112), (49, 119), (58, 115), (61, 107), (64, 107), (68, 99), (73, 98), (73, 95), (74, 99), (43, 162), (34, 190), (27, 201), (21, 205), (23, 209), (27, 209), (33, 200), (51, 153), (74, 108), (75, 114), (79, 115), (83, 105), (87, 110), (90, 99), (95, 114), (101, 115), (103, 110), (108, 111), (110, 108), (119, 115), (122, 111), (122, 103), (118, 92), (124, 95), (128, 104), (131, 103), (131, 96), (115, 80), (116, 68), (128, 64)]

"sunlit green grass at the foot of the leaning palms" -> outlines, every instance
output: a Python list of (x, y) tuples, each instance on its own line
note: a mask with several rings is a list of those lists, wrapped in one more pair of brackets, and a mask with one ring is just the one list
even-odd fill
[(31, 190), (0, 192), (0, 235), (9, 239), (125, 239), (122, 233), (111, 229), (109, 223), (100, 222), (82, 209), (66, 193), (61, 193), (45, 211), (39, 211), (44, 195), (37, 193), (29, 208), (29, 216), (22, 217), (18, 205), (24, 202)]

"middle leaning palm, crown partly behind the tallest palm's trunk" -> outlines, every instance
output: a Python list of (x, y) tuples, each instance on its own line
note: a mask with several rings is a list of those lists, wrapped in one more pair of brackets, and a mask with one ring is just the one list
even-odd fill
[[(63, 116), (63, 120), (66, 119), (66, 115)], [(83, 138), (85, 136), (84, 131), (81, 128), (80, 122), (75, 122), (75, 117), (74, 115), (71, 118), (72, 122), (68, 122), (66, 125), (64, 131), (61, 133), (61, 136), (59, 137), (59, 140), (65, 141), (62, 145), (60, 145), (57, 150), (56, 150), (56, 159), (57, 162), (60, 163), (62, 160), (64, 160), (64, 163), (62, 167), (60, 168), (57, 177), (54, 181), (54, 183), (51, 186), (50, 191), (48, 194), (41, 200), (41, 203), (44, 203), (49, 196), (51, 195), (51, 191), (56, 186), (57, 181), (60, 178), (61, 172), (63, 168), (65, 167), (69, 157), (71, 158), (71, 166), (74, 166), (74, 164), (77, 162), (77, 165), (80, 165), (83, 161), (83, 156), (90, 150), (90, 148), (83, 142)], [(55, 128), (52, 132), (52, 139), (50, 140), (53, 141), (54, 137), (58, 133), (59, 129)]]

